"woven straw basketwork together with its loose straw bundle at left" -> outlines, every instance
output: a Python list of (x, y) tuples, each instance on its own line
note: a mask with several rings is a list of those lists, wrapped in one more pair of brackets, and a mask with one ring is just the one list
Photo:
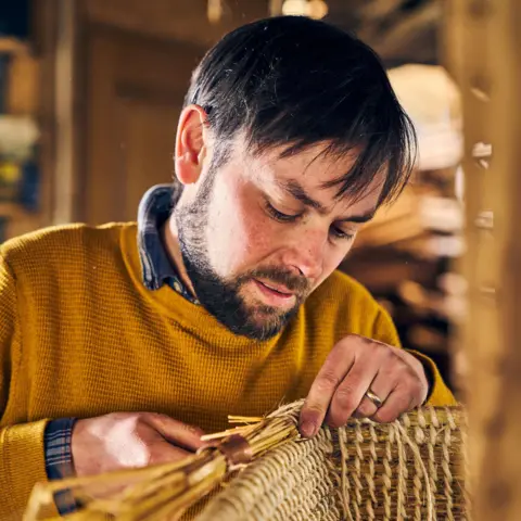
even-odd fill
[(178, 463), (37, 485), (25, 519), (49, 519), (53, 494), (68, 490), (81, 505), (71, 520), (177, 520), (219, 485), (199, 521), (466, 519), (459, 408), (352, 420), (303, 441), (301, 406), (231, 417), (243, 424)]

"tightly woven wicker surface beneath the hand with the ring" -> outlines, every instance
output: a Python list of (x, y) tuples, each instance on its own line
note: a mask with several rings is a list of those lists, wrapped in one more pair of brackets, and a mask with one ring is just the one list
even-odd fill
[(462, 420), (430, 408), (322, 429), (251, 463), (198, 521), (467, 519)]

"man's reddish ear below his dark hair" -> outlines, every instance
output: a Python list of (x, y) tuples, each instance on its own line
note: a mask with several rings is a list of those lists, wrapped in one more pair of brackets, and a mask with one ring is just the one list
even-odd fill
[(176, 136), (176, 177), (182, 185), (196, 182), (207, 153), (207, 115), (202, 106), (186, 106)]

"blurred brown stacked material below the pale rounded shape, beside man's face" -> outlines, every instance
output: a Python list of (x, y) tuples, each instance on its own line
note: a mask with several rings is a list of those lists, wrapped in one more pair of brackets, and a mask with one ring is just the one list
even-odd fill
[(417, 173), (396, 203), (359, 233), (341, 269), (387, 308), (406, 347), (433, 357), (450, 383), (450, 333), (465, 318), (463, 207), (454, 177)]

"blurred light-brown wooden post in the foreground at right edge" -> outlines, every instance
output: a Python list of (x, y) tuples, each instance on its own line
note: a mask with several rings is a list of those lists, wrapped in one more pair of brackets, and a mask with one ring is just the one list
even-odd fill
[[(474, 521), (521, 519), (521, 2), (447, 0), (463, 102)], [(476, 143), (482, 143), (475, 149)], [(486, 145), (492, 143), (492, 157)], [(472, 153), (474, 151), (474, 154)], [(474, 156), (473, 156), (474, 155)], [(493, 216), (491, 214), (493, 213)], [(492, 217), (492, 219), (491, 219)]]

